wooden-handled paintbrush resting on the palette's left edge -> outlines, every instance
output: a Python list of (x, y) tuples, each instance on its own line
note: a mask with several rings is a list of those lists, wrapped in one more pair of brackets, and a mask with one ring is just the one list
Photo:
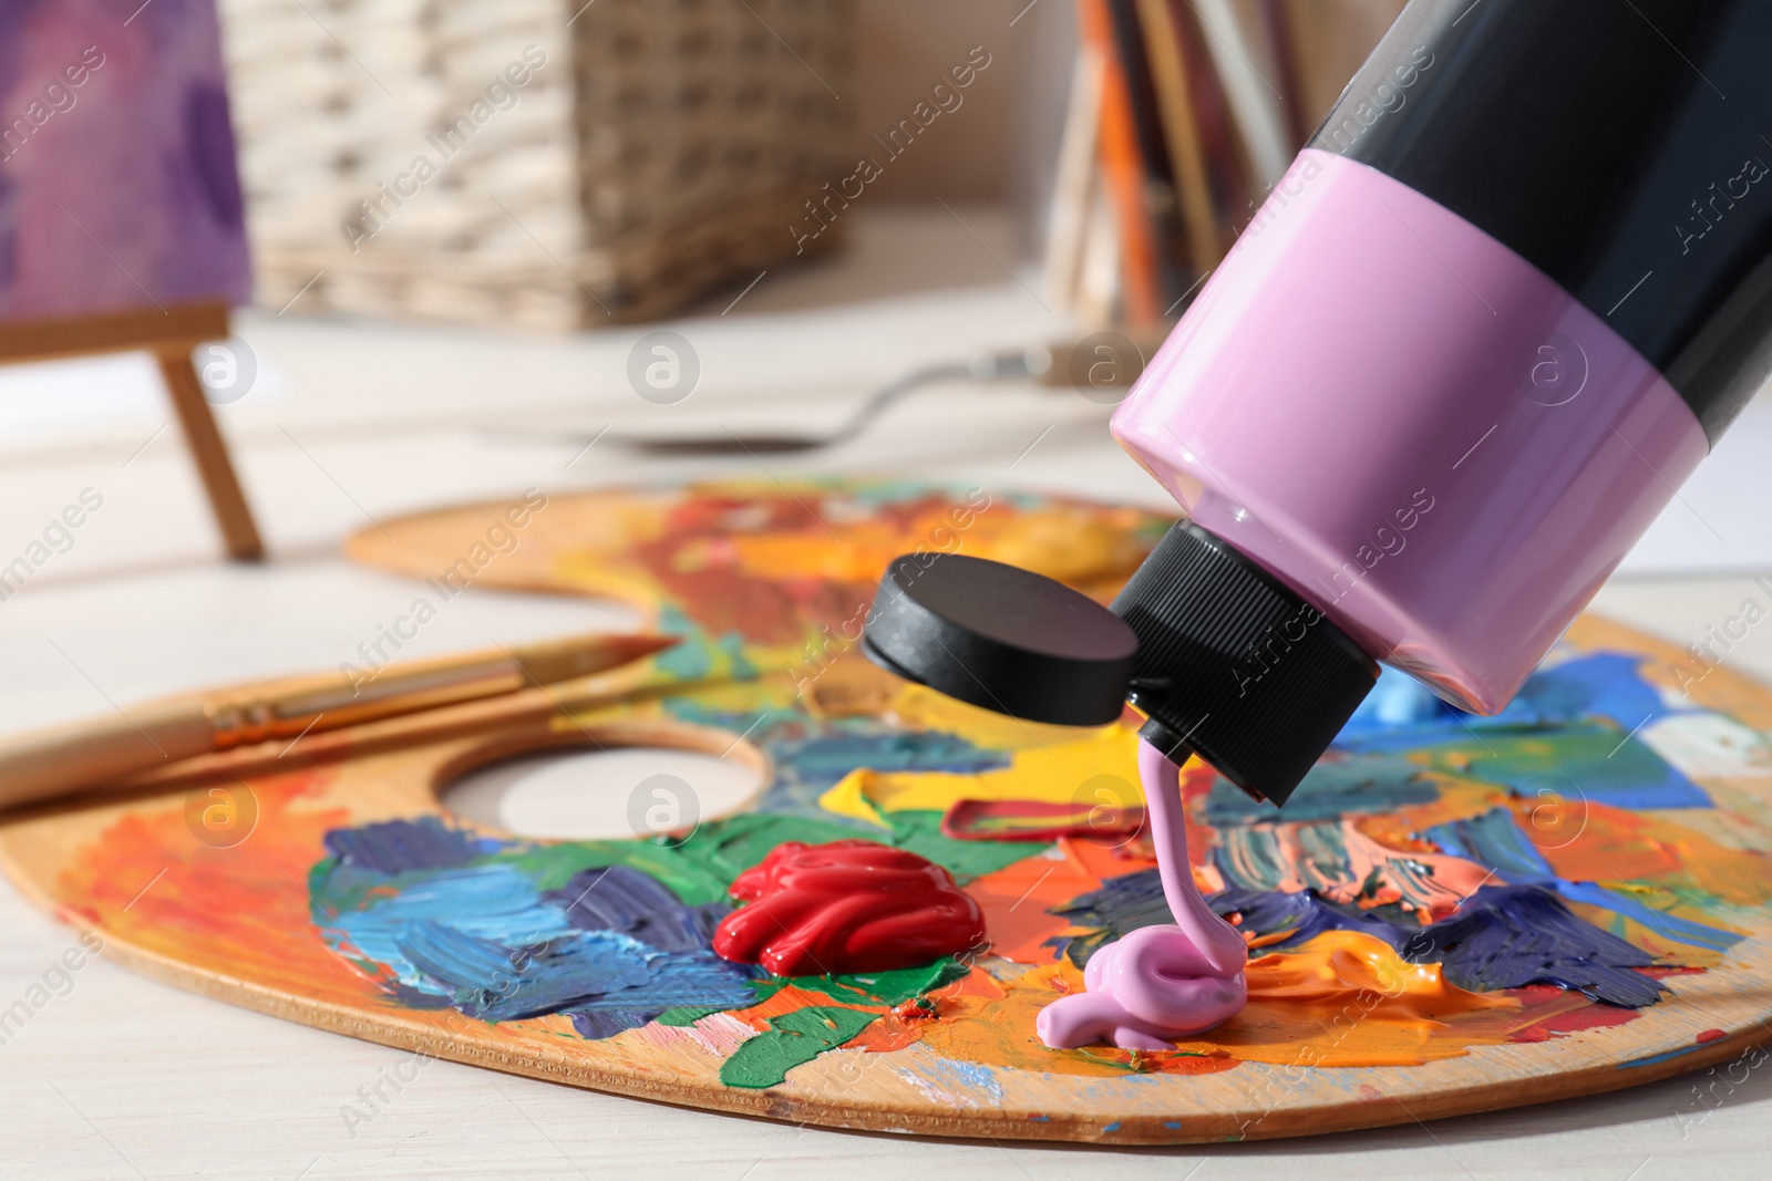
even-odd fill
[(374, 676), (323, 673), (163, 698), (97, 722), (0, 740), (0, 809), (124, 781), (198, 754), (420, 714), (604, 673), (677, 643), (675, 636), (569, 636), (434, 660)]

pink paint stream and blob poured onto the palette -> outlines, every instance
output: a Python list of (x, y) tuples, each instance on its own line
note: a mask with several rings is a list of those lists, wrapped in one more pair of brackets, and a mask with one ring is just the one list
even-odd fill
[(1111, 1041), (1122, 1050), (1173, 1050), (1242, 1011), (1249, 949), (1212, 914), (1187, 864), (1180, 767), (1150, 744), (1138, 749), (1157, 873), (1173, 926), (1146, 926), (1108, 944), (1083, 970), (1086, 992), (1040, 1009), (1035, 1030), (1054, 1050)]

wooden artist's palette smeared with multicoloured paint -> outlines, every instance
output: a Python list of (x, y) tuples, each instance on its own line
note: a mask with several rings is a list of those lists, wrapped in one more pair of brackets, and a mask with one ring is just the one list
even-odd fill
[[(955, 839), (939, 820), (978, 800), (1040, 806), (1028, 811), (1045, 825), (1053, 804), (1136, 802), (1136, 719), (1022, 726), (875, 671), (851, 636), (895, 552), (964, 549), (1106, 595), (1164, 524), (897, 483), (606, 492), (388, 522), (351, 552), (431, 579), (418, 597), (438, 598), (450, 570), (477, 586), (618, 595), (686, 641), (553, 696), (315, 735), (284, 758), (209, 756), (129, 793), (14, 814), (0, 861), (124, 963), (232, 1004), (493, 1069), (845, 1128), (1108, 1144), (1302, 1135), (1627, 1087), (1765, 1036), (1772, 691), (1728, 669), (1694, 680), (1671, 645), (1584, 618), (1510, 715), (1350, 729), (1285, 816), (1191, 765), (1196, 878), (1253, 891), (1239, 907), (1258, 956), (1249, 1007), (1175, 1054), (1040, 1046), (1033, 1016), (1081, 988), (1088, 951), (1152, 921), (1136, 889), (1154, 871), (1148, 845), (1120, 829)], [(737, 816), (652, 841), (523, 841), (438, 802), (471, 767), (588, 745), (741, 760), (766, 790)], [(948, 864), (985, 910), (991, 951), (778, 984), (695, 944), (730, 875), (780, 839), (836, 836)], [(617, 926), (587, 926), (571, 894), (599, 887), (594, 899), (633, 887), (654, 910), (620, 926), (608, 901), (597, 914)], [(1308, 901), (1333, 930), (1263, 919), (1256, 894)], [(1432, 924), (1496, 899), (1549, 907), (1600, 960), (1641, 958), (1582, 977), (1591, 992), (1667, 992), (1625, 1007), (1543, 981), (1481, 986), (1519, 956), (1464, 961), (1442, 940), (1434, 958), (1370, 933), (1446, 931)], [(454, 976), (464, 946), (516, 947), (510, 979)], [(571, 958), (587, 949), (601, 951)], [(560, 979), (578, 992), (537, 1000)]]

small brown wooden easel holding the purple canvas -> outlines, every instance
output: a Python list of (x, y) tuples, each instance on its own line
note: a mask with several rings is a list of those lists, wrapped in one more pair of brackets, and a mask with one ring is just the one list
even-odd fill
[(197, 475), (209, 494), (216, 526), (227, 552), (236, 561), (264, 556), (259, 526), (239, 490), (239, 478), (216, 430), (214, 414), (204, 400), (202, 382), (191, 365), (191, 351), (204, 340), (229, 335), (229, 308), (223, 303), (191, 303), (147, 312), (115, 312), (51, 320), (16, 320), (0, 324), (0, 365), (18, 361), (53, 361), (101, 352), (147, 351), (159, 363), (159, 375), (172, 397), (172, 409), (184, 428)]

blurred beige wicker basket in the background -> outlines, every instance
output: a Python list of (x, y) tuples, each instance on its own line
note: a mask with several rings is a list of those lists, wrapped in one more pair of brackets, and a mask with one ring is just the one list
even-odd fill
[(574, 329), (796, 253), (851, 0), (579, 4), (220, 0), (260, 301)]

